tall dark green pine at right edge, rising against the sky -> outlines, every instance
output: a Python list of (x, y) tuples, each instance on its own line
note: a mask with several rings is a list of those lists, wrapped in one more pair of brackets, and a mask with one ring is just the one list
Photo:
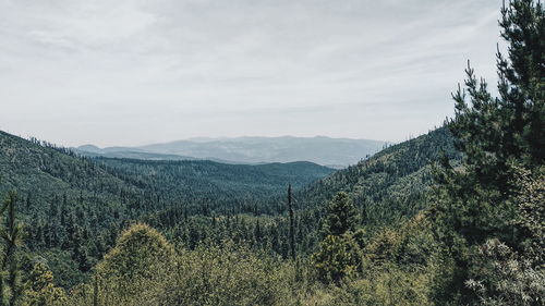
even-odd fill
[(474, 283), (464, 284), (473, 278), (487, 289), (497, 287), (496, 280), (479, 276), (481, 267), (491, 264), (482, 261), (487, 260), (483, 249), (504, 243), (513, 252), (524, 248), (528, 231), (518, 224), (514, 174), (522, 168), (537, 175), (544, 162), (544, 7), (535, 0), (509, 1), (499, 25), (508, 42), (507, 57), (499, 48), (497, 52), (499, 96), (468, 66), (464, 88), (452, 95), (456, 112), (448, 122), (463, 160), (461, 166), (443, 160), (436, 173), (437, 203), (431, 210), (437, 236), (453, 260), (450, 284), (444, 286), (452, 293), (447, 298), (459, 295), (459, 304), (477, 303)]

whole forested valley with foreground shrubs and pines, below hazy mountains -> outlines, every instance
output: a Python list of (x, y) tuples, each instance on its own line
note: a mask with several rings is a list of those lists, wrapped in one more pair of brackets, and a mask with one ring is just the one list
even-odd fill
[(1, 133), (0, 305), (543, 305), (544, 7), (499, 24), (497, 97), (469, 65), (443, 127), (332, 173)]

